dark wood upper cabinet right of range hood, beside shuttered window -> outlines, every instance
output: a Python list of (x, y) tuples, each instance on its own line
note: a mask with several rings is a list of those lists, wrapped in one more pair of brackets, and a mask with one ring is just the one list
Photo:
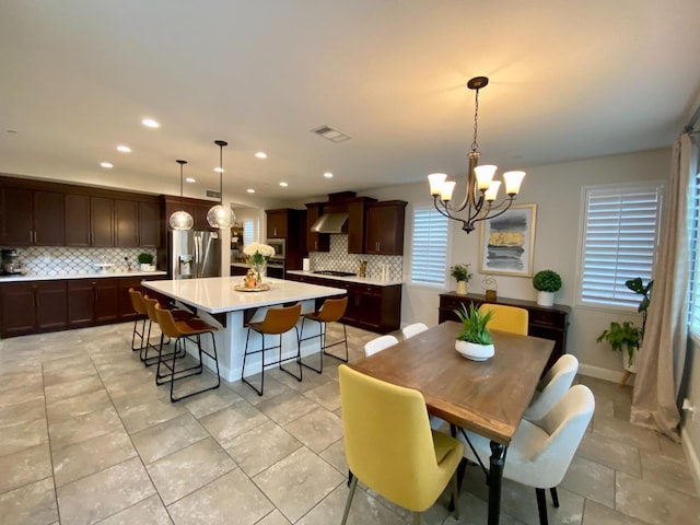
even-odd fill
[(366, 205), (364, 253), (404, 255), (404, 222), (407, 202), (385, 200)]

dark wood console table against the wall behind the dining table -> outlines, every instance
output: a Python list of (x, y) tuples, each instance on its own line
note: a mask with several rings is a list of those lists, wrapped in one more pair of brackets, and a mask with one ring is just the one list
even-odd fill
[(569, 314), (571, 307), (561, 304), (553, 306), (540, 306), (535, 301), (523, 301), (520, 299), (499, 298), (495, 301), (487, 301), (485, 295), (469, 293), (459, 295), (455, 292), (440, 294), (440, 323), (445, 320), (459, 320), (455, 310), (464, 304), (469, 308), (469, 304), (479, 307), (482, 303), (503, 304), (508, 306), (517, 306), (527, 310), (528, 326), (527, 335), (551, 339), (555, 341), (555, 348), (549, 355), (547, 369), (564, 353), (567, 353), (567, 328), (569, 327)]

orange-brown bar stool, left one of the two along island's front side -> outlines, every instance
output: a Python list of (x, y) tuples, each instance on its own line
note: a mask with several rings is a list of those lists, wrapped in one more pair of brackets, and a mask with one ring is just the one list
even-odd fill
[[(294, 304), (293, 306), (285, 306), (283, 308), (268, 308), (267, 314), (265, 314), (265, 318), (260, 322), (248, 323), (248, 335), (245, 338), (245, 353), (243, 354), (243, 370), (241, 371), (241, 381), (253, 388), (258, 396), (262, 395), (262, 390), (265, 389), (265, 366), (270, 364), (279, 364), (280, 370), (287, 372), (289, 375), (294, 377), (296, 381), (302, 381), (302, 357), (300, 353), (299, 347), (299, 328), (296, 327), (296, 323), (299, 323), (299, 318), (301, 316), (302, 305), (300, 303)], [(293, 358), (282, 359), (282, 335), (290, 331), (294, 328), (294, 332), (296, 334), (296, 355)], [(248, 342), (250, 340), (250, 330), (257, 331), (262, 336), (262, 343), (259, 350), (248, 350)], [(273, 347), (265, 347), (265, 336), (279, 335), (280, 343)], [(265, 361), (265, 352), (267, 350), (273, 350), (276, 348), (280, 349), (279, 359), (277, 361), (267, 362)], [(255, 385), (253, 385), (248, 380), (245, 378), (245, 362), (248, 355), (254, 355), (256, 353), (260, 354), (260, 389), (258, 389)], [(287, 361), (296, 361), (299, 365), (299, 375), (294, 375), (289, 370), (282, 366), (282, 363)]]

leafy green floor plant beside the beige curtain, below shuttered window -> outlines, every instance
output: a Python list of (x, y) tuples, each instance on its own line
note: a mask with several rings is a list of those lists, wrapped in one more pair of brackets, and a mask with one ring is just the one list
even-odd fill
[(634, 293), (642, 295), (637, 311), (642, 314), (641, 328), (634, 323), (626, 320), (621, 324), (612, 320), (609, 328), (603, 330), (603, 334), (596, 339), (597, 342), (607, 342), (612, 351), (622, 352), (622, 366), (628, 372), (622, 378), (622, 384), (627, 383), (630, 374), (637, 373), (637, 355), (642, 346), (644, 338), (644, 329), (646, 328), (646, 310), (652, 300), (652, 288), (654, 281), (650, 280), (646, 284), (641, 277), (625, 281), (625, 285)]

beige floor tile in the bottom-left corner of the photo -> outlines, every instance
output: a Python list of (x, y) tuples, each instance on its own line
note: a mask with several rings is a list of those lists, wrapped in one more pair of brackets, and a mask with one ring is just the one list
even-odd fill
[(54, 481), (46, 478), (0, 494), (2, 525), (51, 524), (58, 520)]

